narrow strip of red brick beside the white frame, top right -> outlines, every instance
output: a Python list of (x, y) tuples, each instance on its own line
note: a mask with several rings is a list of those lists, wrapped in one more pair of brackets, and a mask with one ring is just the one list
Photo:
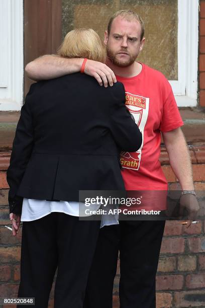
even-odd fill
[(205, 1), (200, 0), (199, 20), (199, 104), (205, 107)]

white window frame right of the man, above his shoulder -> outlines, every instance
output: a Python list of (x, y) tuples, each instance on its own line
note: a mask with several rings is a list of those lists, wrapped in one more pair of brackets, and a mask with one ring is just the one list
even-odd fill
[(198, 9), (198, 0), (178, 0), (178, 80), (169, 81), (178, 107), (197, 105)]

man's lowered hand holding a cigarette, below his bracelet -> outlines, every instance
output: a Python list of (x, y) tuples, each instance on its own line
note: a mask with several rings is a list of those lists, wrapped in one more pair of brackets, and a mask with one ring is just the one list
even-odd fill
[[(199, 210), (198, 201), (196, 199), (196, 196), (192, 194), (184, 194), (180, 197), (180, 204), (179, 204), (179, 215), (184, 216), (187, 215), (187, 218), (189, 219), (186, 224), (186, 227), (188, 228), (191, 225), (191, 222), (196, 219), (197, 212)], [(185, 211), (185, 213), (184, 213)]]

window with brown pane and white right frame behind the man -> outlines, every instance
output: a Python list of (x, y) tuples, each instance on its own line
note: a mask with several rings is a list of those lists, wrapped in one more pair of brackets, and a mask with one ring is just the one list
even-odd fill
[(62, 0), (62, 34), (89, 27), (103, 39), (110, 16), (124, 9), (145, 22), (146, 44), (138, 60), (165, 74), (178, 106), (196, 106), (198, 0)]

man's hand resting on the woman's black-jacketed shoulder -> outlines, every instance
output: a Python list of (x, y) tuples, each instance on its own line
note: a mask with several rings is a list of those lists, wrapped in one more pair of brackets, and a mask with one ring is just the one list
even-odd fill
[(84, 73), (93, 76), (100, 86), (104, 84), (104, 87), (106, 88), (108, 87), (108, 83), (112, 87), (113, 83), (117, 82), (116, 76), (112, 69), (101, 62), (87, 60), (85, 63)]

